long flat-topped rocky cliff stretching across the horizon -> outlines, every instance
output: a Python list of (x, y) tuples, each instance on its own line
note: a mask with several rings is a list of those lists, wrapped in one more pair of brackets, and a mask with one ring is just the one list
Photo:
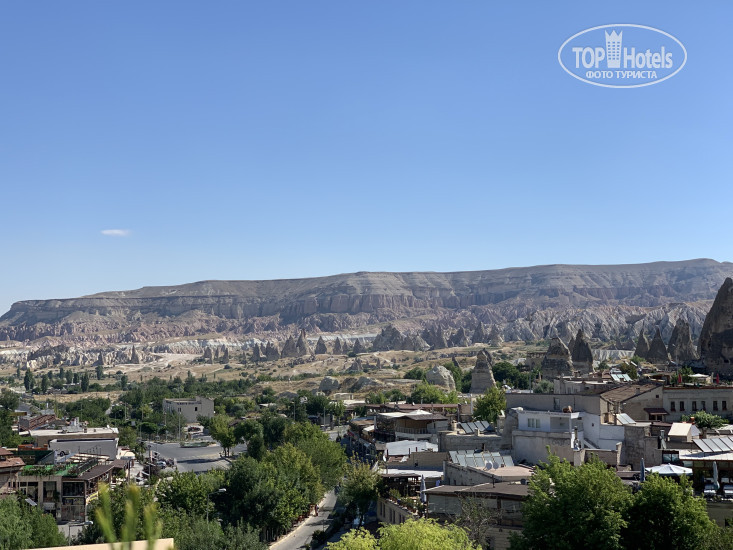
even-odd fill
[[(13, 304), (0, 341), (47, 337), (154, 341), (209, 333), (341, 332), (401, 321), (443, 337), (485, 323), (496, 338), (635, 340), (642, 323), (669, 338), (684, 317), (698, 334), (709, 300), (733, 264), (548, 265), (456, 273), (353, 273), (312, 279), (204, 281)], [(469, 332), (470, 331), (470, 332)], [(481, 333), (482, 329), (479, 330)], [(440, 334), (438, 335), (438, 332)]]

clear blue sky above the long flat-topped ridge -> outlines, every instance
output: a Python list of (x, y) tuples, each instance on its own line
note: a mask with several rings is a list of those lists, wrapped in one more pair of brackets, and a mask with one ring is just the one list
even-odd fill
[[(0, 311), (202, 279), (733, 259), (733, 4), (16, 2)], [(597, 25), (687, 48), (606, 89)], [(118, 229), (122, 235), (105, 235)]]

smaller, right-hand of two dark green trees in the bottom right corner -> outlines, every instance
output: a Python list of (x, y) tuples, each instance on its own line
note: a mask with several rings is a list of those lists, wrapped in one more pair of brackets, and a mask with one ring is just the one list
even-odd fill
[(622, 535), (628, 550), (701, 548), (715, 534), (705, 500), (693, 495), (685, 477), (677, 483), (649, 476), (626, 510), (626, 521)]

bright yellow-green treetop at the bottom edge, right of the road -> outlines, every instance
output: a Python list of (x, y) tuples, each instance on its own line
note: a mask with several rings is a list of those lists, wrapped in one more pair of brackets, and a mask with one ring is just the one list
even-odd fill
[(433, 519), (408, 519), (379, 528), (382, 550), (478, 550), (456, 525), (438, 525)]

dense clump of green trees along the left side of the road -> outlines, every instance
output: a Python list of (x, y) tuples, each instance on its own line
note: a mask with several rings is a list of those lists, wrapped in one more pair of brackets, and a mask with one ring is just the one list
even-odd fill
[[(342, 447), (310, 422), (266, 412), (257, 420), (230, 425), (228, 417), (218, 415), (210, 429), (219, 437), (217, 430), (231, 430), (233, 438), (247, 442), (247, 454), (227, 471), (175, 473), (155, 489), (143, 491), (143, 499), (157, 499), (162, 536), (175, 537), (179, 550), (209, 547), (211, 541), (225, 536), (249, 541), (250, 546), (241, 548), (259, 548), (251, 546), (252, 540), (259, 541), (260, 535), (270, 539), (289, 530), (293, 521), (307, 515), (341, 481), (346, 469)], [(124, 505), (125, 491), (112, 492), (113, 512), (115, 506)], [(217, 522), (204, 526), (209, 516), (221, 518), (223, 527)], [(209, 537), (207, 545), (201, 544), (207, 540), (201, 538), (203, 533)], [(103, 539), (101, 526), (95, 524), (85, 529), (81, 541)]]

